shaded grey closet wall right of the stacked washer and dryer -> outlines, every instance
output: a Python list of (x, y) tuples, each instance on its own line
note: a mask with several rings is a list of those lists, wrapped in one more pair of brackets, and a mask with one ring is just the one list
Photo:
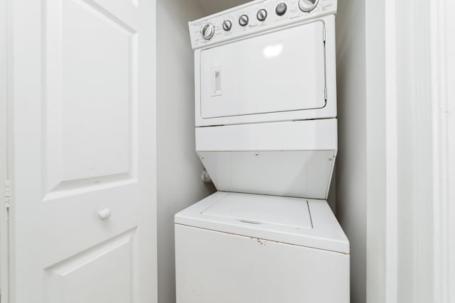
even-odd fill
[(365, 0), (339, 0), (336, 16), (338, 158), (336, 216), (350, 241), (351, 302), (364, 303), (366, 280)]

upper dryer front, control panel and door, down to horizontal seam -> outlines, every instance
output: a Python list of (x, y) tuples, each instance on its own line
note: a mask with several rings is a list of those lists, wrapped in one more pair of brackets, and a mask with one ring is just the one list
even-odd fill
[(300, 2), (316, 8), (252, 1), (190, 23), (196, 126), (336, 118), (336, 0)]

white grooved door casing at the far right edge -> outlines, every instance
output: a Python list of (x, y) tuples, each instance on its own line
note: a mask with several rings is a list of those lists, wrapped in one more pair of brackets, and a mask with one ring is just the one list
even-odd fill
[[(454, 9), (449, 0), (434, 1), (430, 10), (432, 45), (432, 104), (433, 104), (433, 290), (434, 302), (454, 302), (455, 263), (450, 255), (455, 247), (454, 184), (455, 155), (454, 107), (455, 60), (449, 54), (455, 49), (451, 30), (455, 20), (449, 13)], [(448, 29), (449, 28), (449, 29)], [(452, 186), (453, 187), (453, 186)], [(452, 199), (452, 201), (451, 201)]]

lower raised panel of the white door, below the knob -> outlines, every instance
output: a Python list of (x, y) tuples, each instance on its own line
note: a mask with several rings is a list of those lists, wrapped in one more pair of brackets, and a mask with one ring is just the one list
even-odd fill
[[(60, 303), (63, 297), (68, 299), (65, 302), (74, 303), (94, 300), (93, 297), (85, 297), (86, 294), (78, 290), (90, 287), (96, 280), (104, 280), (103, 275), (115, 276), (117, 279), (114, 283), (109, 281), (97, 285), (95, 300), (111, 302), (122, 298), (122, 302), (134, 302), (132, 290), (135, 285), (131, 277), (134, 267), (138, 266), (137, 260), (133, 258), (134, 250), (137, 249), (133, 241), (135, 231), (136, 228), (133, 228), (45, 268), (44, 283), (48, 288), (45, 302)], [(117, 265), (112, 266), (112, 262)], [(93, 276), (91, 272), (87, 272), (87, 267), (96, 268), (99, 275)], [(71, 293), (68, 295), (68, 292)]]

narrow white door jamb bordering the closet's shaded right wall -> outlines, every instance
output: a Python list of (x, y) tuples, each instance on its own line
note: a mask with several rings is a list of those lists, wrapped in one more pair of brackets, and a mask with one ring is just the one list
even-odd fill
[[(395, 1), (395, 0), (391, 0)], [(366, 62), (366, 299), (392, 303), (386, 293), (387, 129), (385, 7), (390, 1), (365, 0)], [(390, 121), (393, 123), (394, 120)], [(392, 181), (392, 180), (390, 180)], [(393, 181), (392, 181), (393, 182)], [(390, 271), (395, 270), (390, 268)]]

